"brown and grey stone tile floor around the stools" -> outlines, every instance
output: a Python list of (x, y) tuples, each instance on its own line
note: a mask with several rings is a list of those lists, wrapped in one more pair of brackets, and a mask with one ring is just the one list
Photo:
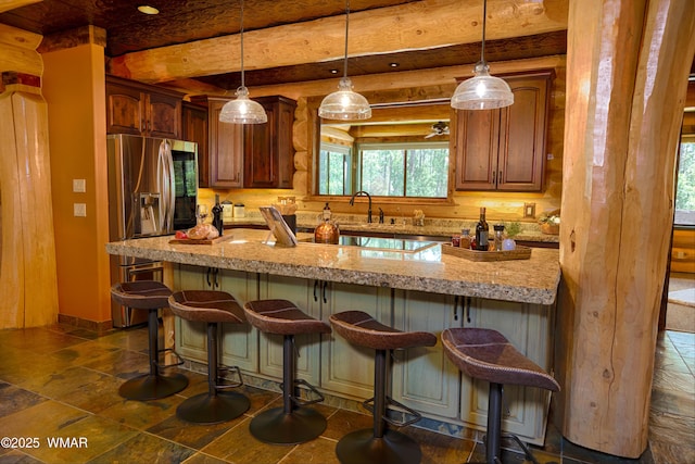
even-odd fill
[[(191, 425), (176, 417), (184, 398), (204, 391), (204, 375), (182, 371), (190, 385), (179, 394), (148, 402), (127, 401), (118, 386), (147, 372), (147, 330), (97, 334), (67, 325), (0, 330), (0, 438), (22, 448), (0, 447), (0, 463), (178, 463), (332, 464), (337, 441), (371, 426), (369, 415), (317, 405), (328, 428), (300, 446), (270, 446), (249, 434), (261, 410), (279, 405), (279, 394), (244, 386), (251, 409), (218, 425)], [(649, 449), (639, 460), (593, 452), (565, 440), (551, 424), (545, 447), (532, 447), (543, 464), (695, 463), (695, 335), (659, 335), (649, 419)], [(481, 460), (472, 440), (414, 426), (403, 431), (422, 448), (424, 464)], [(471, 436), (476, 436), (471, 434)], [(72, 438), (51, 447), (49, 438)], [(37, 441), (34, 441), (37, 438)], [(80, 441), (83, 440), (83, 441)], [(522, 463), (507, 452), (505, 463)]]

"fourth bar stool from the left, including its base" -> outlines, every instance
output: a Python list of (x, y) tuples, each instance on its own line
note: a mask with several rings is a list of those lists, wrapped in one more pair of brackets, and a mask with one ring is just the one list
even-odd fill
[[(342, 464), (417, 464), (422, 457), (420, 446), (400, 431), (388, 428), (415, 424), (418, 412), (387, 396), (387, 352), (415, 347), (432, 347), (437, 337), (427, 331), (401, 331), (386, 326), (362, 311), (345, 311), (330, 316), (333, 329), (351, 343), (376, 350), (374, 397), (363, 405), (374, 415), (372, 428), (348, 434), (340, 439), (336, 454)], [(371, 406), (374, 403), (374, 406)], [(414, 418), (396, 422), (387, 416), (393, 405)]]

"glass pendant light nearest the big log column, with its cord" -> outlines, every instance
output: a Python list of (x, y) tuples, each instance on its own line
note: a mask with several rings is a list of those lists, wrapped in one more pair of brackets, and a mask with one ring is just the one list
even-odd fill
[(491, 76), (490, 66), (485, 62), (486, 16), (488, 0), (483, 0), (480, 61), (473, 70), (475, 76), (460, 83), (452, 97), (452, 106), (456, 110), (493, 110), (514, 103), (509, 85), (500, 77)]

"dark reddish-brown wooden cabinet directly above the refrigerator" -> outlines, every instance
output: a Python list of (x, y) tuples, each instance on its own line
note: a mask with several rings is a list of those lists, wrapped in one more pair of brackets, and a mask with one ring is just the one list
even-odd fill
[(184, 95), (106, 76), (106, 133), (181, 138)]

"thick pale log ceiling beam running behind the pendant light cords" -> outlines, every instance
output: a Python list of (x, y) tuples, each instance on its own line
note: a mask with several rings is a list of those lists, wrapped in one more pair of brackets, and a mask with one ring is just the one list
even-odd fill
[[(485, 39), (567, 29), (568, 2), (490, 0)], [(482, 5), (460, 0), (424, 0), (351, 13), (349, 54), (393, 53), (480, 41)], [(244, 68), (341, 59), (345, 49), (344, 15), (244, 33)], [(240, 71), (240, 36), (231, 35), (143, 50), (113, 58), (109, 72), (146, 83)], [(350, 70), (349, 70), (350, 73)]]

